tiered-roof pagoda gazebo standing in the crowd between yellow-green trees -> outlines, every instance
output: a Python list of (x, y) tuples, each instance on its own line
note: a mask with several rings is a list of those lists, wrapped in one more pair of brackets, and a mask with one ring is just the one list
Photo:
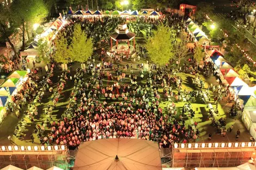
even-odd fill
[[(135, 49), (135, 34), (129, 32), (126, 23), (119, 24), (115, 33), (109, 35), (111, 37), (111, 51), (118, 53), (125, 53), (129, 55)], [(130, 41), (133, 39), (133, 46), (130, 46)], [(113, 46), (112, 40), (115, 41)], [(118, 46), (119, 45), (119, 46)], [(133, 49), (132, 49), (133, 48)]]

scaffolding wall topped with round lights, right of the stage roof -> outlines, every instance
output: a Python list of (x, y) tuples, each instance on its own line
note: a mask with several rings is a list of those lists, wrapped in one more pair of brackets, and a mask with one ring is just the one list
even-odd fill
[(254, 162), (255, 142), (176, 144), (172, 149), (172, 167), (236, 167)]

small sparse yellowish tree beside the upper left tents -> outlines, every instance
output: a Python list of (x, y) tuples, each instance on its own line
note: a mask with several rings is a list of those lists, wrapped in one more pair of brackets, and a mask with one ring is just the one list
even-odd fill
[(38, 40), (38, 47), (36, 48), (36, 50), (38, 51), (39, 53), (39, 59), (40, 61), (44, 61), (45, 64), (49, 64), (50, 63), (50, 56), (48, 55), (48, 49), (49, 49), (49, 46), (48, 46), (48, 43), (47, 41), (44, 41), (42, 39), (39, 39)]

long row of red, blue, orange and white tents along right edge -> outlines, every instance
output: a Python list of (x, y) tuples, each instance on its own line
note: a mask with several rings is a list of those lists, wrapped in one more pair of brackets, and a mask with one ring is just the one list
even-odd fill
[(208, 54), (221, 81), (229, 85), (229, 90), (235, 93), (235, 97), (238, 97), (236, 101), (239, 101), (243, 108), (242, 121), (251, 135), (256, 138), (256, 86), (249, 87), (224, 59), (224, 55), (220, 51), (209, 51)]

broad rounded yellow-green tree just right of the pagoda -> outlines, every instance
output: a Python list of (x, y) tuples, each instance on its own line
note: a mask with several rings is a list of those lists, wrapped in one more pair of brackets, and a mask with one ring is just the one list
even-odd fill
[(169, 27), (161, 24), (148, 39), (146, 48), (150, 59), (156, 64), (164, 65), (173, 58), (174, 37), (172, 35)]

